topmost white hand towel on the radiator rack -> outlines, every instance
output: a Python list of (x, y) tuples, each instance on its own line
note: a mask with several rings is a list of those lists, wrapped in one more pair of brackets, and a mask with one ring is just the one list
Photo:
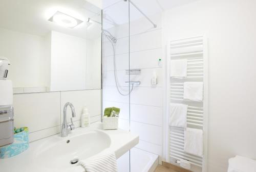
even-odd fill
[(187, 77), (187, 60), (170, 61), (170, 77), (182, 79)]

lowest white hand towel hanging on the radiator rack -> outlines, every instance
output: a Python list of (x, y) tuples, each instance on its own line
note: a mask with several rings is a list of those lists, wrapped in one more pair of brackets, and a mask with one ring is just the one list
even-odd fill
[(203, 155), (203, 130), (187, 128), (184, 132), (184, 152)]

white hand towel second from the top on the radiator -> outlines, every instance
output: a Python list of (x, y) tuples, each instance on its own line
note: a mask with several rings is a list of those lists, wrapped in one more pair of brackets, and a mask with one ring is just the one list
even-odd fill
[(203, 82), (184, 82), (183, 99), (190, 101), (203, 101)]

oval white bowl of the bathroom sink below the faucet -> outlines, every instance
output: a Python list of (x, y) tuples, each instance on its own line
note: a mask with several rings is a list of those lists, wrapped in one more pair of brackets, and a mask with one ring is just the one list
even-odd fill
[[(87, 131), (83, 134), (71, 135), (53, 144), (45, 142), (38, 148), (34, 161), (41, 168), (62, 171), (79, 165), (79, 160), (87, 159), (109, 148), (110, 143), (108, 134), (101, 131)], [(70, 163), (71, 160), (74, 164)]]

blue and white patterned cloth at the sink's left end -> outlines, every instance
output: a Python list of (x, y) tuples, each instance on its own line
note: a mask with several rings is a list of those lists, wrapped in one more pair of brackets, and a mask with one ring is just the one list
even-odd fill
[(29, 148), (29, 131), (25, 128), (23, 132), (14, 134), (14, 142), (0, 148), (0, 158), (10, 158), (18, 155)]

